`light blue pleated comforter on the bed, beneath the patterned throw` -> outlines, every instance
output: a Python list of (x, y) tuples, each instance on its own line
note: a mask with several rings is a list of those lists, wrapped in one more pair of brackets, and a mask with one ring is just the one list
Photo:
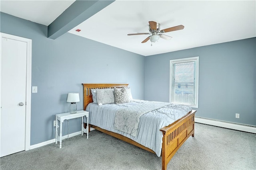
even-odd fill
[[(180, 119), (192, 109), (191, 107), (185, 105), (166, 103), (167, 106), (149, 111), (148, 113), (141, 115), (139, 118), (140, 121), (137, 136), (132, 136), (114, 128), (115, 114), (118, 112), (120, 107), (134, 106), (143, 102), (144, 100), (132, 100), (131, 102), (125, 104), (104, 104), (101, 106), (90, 103), (86, 107), (86, 111), (89, 111), (89, 123), (102, 129), (128, 137), (133, 141), (136, 141), (137, 143), (140, 143), (141, 145), (153, 150), (156, 152), (156, 155), (160, 157), (163, 137), (160, 129)], [(84, 122), (86, 122), (86, 119), (84, 119)]]

